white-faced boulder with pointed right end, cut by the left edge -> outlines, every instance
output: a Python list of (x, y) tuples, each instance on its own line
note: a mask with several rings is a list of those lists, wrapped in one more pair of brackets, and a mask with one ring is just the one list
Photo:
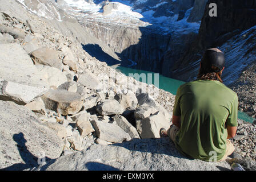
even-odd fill
[(0, 78), (0, 100), (25, 105), (35, 97), (42, 96), (48, 88), (17, 84)]

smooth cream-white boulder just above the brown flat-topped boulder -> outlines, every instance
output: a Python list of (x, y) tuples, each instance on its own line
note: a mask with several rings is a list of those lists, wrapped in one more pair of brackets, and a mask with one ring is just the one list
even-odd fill
[(57, 68), (45, 65), (37, 65), (36, 67), (38, 68), (38, 72), (44, 76), (47, 83), (53, 88), (58, 88), (59, 85), (67, 81), (65, 73)]

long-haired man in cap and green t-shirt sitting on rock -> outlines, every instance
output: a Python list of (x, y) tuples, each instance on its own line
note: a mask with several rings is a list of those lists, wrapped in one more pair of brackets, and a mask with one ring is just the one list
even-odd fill
[(229, 139), (237, 132), (238, 97), (222, 84), (224, 64), (219, 49), (207, 49), (197, 80), (177, 90), (173, 125), (160, 130), (189, 158), (220, 162), (234, 151)]

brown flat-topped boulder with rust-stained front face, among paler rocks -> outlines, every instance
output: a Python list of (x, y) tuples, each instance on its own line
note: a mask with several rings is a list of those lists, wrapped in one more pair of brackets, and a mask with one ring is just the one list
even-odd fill
[(46, 109), (62, 115), (77, 114), (83, 106), (83, 98), (67, 90), (49, 90), (42, 97)]

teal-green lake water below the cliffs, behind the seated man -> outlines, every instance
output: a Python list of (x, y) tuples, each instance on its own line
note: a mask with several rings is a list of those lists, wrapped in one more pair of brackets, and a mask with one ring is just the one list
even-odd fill
[[(174, 95), (176, 95), (176, 92), (177, 92), (177, 89), (179, 88), (179, 86), (185, 83), (184, 81), (175, 80), (173, 78), (159, 75), (159, 83), (157, 85), (157, 84), (155, 84), (155, 81), (154, 81), (154, 74), (155, 74), (154, 72), (142, 71), (139, 69), (125, 68), (125, 67), (116, 67), (115, 69), (118, 69), (126, 76), (129, 76), (129, 73), (132, 73), (132, 74), (138, 73), (139, 75), (141, 73), (145, 73), (146, 76), (150, 76), (150, 78), (152, 77), (153, 85), (158, 86), (158, 88), (163, 89), (167, 92), (170, 92)], [(146, 82), (146, 81), (143, 81), (142, 79), (136, 79), (136, 80)], [(254, 118), (249, 117), (249, 115), (247, 115), (246, 113), (243, 113), (241, 111), (238, 111), (238, 118), (242, 119), (243, 121), (250, 122), (250, 123), (253, 123), (253, 121), (254, 121)]]

